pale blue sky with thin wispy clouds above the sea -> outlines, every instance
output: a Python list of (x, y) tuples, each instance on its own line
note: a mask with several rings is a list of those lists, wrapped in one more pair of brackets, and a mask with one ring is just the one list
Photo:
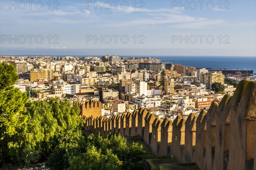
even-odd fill
[(256, 1), (0, 0), (0, 35), (0, 55), (256, 56)]

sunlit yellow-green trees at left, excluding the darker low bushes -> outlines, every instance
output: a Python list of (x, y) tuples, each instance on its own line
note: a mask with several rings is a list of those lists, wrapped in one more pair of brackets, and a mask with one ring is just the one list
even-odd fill
[(13, 87), (17, 79), (13, 65), (0, 64), (0, 162), (15, 164), (46, 158), (59, 136), (83, 126), (78, 105), (58, 98), (29, 102)]

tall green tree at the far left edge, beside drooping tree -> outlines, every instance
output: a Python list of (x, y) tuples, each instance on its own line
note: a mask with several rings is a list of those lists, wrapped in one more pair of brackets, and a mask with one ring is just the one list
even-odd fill
[(28, 120), (28, 117), (22, 114), (28, 96), (14, 88), (17, 79), (13, 65), (0, 63), (0, 155), (3, 159), (12, 155), (12, 159), (17, 160), (20, 156), (17, 148), (23, 143), (17, 143), (15, 138), (20, 135), (20, 128)]

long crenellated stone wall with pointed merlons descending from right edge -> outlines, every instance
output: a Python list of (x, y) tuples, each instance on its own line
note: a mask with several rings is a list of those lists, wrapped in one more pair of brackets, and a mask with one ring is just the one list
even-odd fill
[(163, 121), (140, 108), (109, 119), (85, 117), (84, 129), (93, 133), (140, 136), (154, 155), (195, 162), (202, 170), (256, 170), (256, 82), (243, 80), (235, 94), (213, 102), (208, 112), (187, 119)]

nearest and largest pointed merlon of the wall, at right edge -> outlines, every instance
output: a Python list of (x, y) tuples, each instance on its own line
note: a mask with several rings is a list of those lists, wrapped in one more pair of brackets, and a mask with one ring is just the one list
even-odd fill
[[(254, 158), (256, 82), (240, 82), (230, 102), (230, 150), (228, 169), (252, 169)], [(238, 156), (239, 155), (239, 156)]]

